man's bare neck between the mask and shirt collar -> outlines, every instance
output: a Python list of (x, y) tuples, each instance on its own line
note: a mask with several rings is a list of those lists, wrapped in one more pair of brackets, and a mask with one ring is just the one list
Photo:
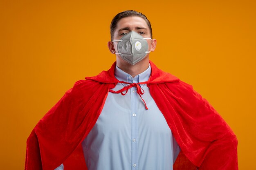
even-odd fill
[(149, 66), (149, 59), (148, 57), (144, 58), (143, 60), (137, 62), (135, 65), (131, 65), (126, 61), (117, 60), (117, 66), (124, 72), (130, 74), (132, 77), (144, 72)]

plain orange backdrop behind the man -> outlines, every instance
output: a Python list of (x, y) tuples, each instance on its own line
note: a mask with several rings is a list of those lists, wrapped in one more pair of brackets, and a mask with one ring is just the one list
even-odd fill
[(150, 59), (192, 84), (238, 137), (240, 170), (256, 170), (254, 0), (0, 0), (0, 167), (23, 169), (26, 139), (79, 79), (110, 68), (112, 18), (144, 13)]

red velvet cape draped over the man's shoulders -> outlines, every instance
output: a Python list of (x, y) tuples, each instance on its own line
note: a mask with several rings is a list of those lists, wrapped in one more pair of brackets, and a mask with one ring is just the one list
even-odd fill
[[(25, 170), (54, 170), (61, 163), (65, 170), (87, 169), (81, 142), (118, 83), (115, 64), (76, 82), (38, 122), (27, 139)], [(191, 85), (150, 65), (150, 94), (182, 150), (174, 169), (238, 170), (238, 141), (222, 117)]]

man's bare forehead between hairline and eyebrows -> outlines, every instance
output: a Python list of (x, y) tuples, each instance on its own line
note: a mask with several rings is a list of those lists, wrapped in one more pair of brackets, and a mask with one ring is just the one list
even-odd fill
[(119, 31), (119, 29), (122, 29), (125, 27), (130, 29), (135, 29), (136, 27), (149, 29), (146, 21), (143, 18), (137, 17), (137, 16), (126, 17), (119, 20), (117, 22), (117, 28), (115, 31)]

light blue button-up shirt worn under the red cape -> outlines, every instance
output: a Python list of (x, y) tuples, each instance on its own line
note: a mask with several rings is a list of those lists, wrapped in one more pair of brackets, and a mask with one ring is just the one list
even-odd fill
[[(115, 69), (115, 77), (129, 83), (146, 82), (150, 74), (150, 66), (133, 78), (117, 66)], [(118, 83), (112, 90), (126, 85)], [(149, 88), (140, 86), (148, 110), (135, 87), (124, 96), (108, 93), (101, 115), (82, 142), (88, 170), (173, 170), (180, 147)]]

